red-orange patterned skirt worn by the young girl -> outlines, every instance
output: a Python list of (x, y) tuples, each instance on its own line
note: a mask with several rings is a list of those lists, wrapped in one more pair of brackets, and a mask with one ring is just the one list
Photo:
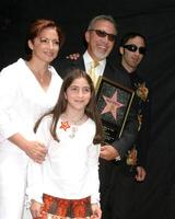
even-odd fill
[(63, 199), (44, 194), (39, 219), (90, 219), (91, 198)]

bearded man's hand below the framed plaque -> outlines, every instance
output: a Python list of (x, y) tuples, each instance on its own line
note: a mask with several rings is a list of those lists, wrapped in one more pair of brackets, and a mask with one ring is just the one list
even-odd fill
[(101, 158), (107, 161), (110, 161), (110, 160), (114, 160), (118, 155), (119, 153), (117, 149), (115, 149), (113, 146), (106, 145), (106, 146), (101, 147), (101, 153), (100, 153)]

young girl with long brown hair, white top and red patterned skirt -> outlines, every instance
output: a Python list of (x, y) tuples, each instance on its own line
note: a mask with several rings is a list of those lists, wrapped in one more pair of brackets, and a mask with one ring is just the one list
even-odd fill
[(73, 69), (65, 79), (55, 108), (35, 126), (47, 146), (40, 165), (31, 160), (27, 194), (33, 218), (101, 218), (98, 154), (102, 125), (90, 77)]

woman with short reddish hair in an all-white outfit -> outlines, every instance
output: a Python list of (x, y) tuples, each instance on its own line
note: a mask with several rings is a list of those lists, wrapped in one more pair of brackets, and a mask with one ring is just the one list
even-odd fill
[(33, 127), (57, 102), (62, 80), (49, 64), (62, 41), (54, 21), (35, 21), (28, 59), (20, 58), (0, 73), (0, 218), (22, 218), (28, 160), (45, 160), (47, 149), (35, 140)]

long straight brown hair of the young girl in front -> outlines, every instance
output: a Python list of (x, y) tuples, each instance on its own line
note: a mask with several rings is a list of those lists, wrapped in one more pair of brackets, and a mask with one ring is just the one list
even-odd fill
[(67, 89), (71, 85), (71, 83), (78, 78), (84, 78), (90, 85), (91, 99), (90, 99), (89, 104), (85, 107), (84, 113), (88, 117), (90, 117), (92, 120), (94, 120), (95, 125), (96, 125), (96, 132), (95, 132), (95, 137), (93, 139), (93, 143), (101, 143), (103, 141), (103, 127), (102, 127), (100, 114), (96, 108), (94, 85), (93, 85), (93, 82), (92, 82), (90, 76), (88, 73), (85, 73), (83, 70), (80, 70), (77, 68), (71, 68), (68, 70), (68, 74), (66, 76), (66, 78), (62, 82), (62, 85), (61, 85), (61, 90), (60, 90), (60, 94), (59, 94), (57, 104), (55, 105), (52, 111), (46, 113), (37, 120), (34, 131), (36, 132), (42, 119), (45, 116), (52, 115), (52, 120), (51, 120), (51, 125), (50, 125), (50, 134), (55, 140), (59, 141), (59, 138), (56, 134), (56, 129), (57, 129), (57, 124), (58, 124), (60, 115), (62, 113), (65, 113), (67, 110), (67, 100), (66, 100), (65, 93), (66, 93)]

